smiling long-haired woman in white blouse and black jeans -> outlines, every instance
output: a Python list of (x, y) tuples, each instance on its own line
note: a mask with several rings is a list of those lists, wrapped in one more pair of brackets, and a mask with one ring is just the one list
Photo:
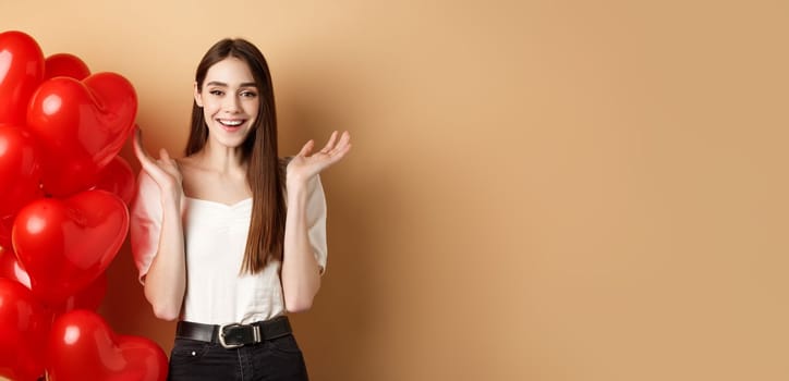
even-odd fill
[(348, 153), (348, 132), (280, 160), (268, 65), (223, 39), (197, 66), (185, 157), (154, 160), (141, 135), (132, 250), (154, 314), (180, 319), (169, 379), (306, 380), (284, 314), (308, 309), (320, 286), (318, 174)]

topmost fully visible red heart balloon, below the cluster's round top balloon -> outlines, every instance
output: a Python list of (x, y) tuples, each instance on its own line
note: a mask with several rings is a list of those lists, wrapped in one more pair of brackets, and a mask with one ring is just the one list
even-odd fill
[(137, 96), (121, 75), (45, 81), (33, 95), (27, 128), (43, 151), (44, 189), (68, 196), (96, 185), (134, 127)]

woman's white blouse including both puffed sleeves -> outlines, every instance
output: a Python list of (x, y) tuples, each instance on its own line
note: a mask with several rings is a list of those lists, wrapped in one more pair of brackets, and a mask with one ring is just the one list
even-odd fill
[[(159, 246), (162, 210), (160, 190), (154, 180), (141, 171), (137, 184), (131, 235), (132, 254), (143, 283)], [(326, 269), (326, 199), (319, 177), (308, 186), (309, 243), (318, 265)], [(257, 274), (240, 275), (251, 217), (252, 198), (224, 205), (186, 197), (183, 216), (186, 294), (182, 320), (246, 324), (286, 312), (280, 261), (269, 262)]]

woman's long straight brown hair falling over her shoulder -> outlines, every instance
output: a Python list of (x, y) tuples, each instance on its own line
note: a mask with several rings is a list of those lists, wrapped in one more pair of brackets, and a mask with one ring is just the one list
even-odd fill
[[(271, 74), (263, 53), (251, 42), (226, 38), (215, 44), (197, 65), (195, 81), (203, 91), (203, 81), (215, 63), (228, 57), (238, 58), (250, 66), (259, 93), (260, 107), (255, 124), (241, 146), (242, 160), (247, 162), (246, 181), (252, 188), (252, 221), (246, 238), (241, 273), (257, 273), (272, 259), (282, 259), (284, 241), (286, 206), (281, 171), (277, 150), (277, 113), (274, 106)], [(208, 126), (203, 109), (195, 101), (192, 106), (192, 127), (186, 143), (186, 156), (206, 145)]]

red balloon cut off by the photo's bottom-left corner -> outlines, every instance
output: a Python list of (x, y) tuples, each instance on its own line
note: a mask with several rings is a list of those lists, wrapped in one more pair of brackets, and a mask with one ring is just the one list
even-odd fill
[(0, 377), (33, 381), (44, 374), (49, 315), (25, 286), (0, 279)]

